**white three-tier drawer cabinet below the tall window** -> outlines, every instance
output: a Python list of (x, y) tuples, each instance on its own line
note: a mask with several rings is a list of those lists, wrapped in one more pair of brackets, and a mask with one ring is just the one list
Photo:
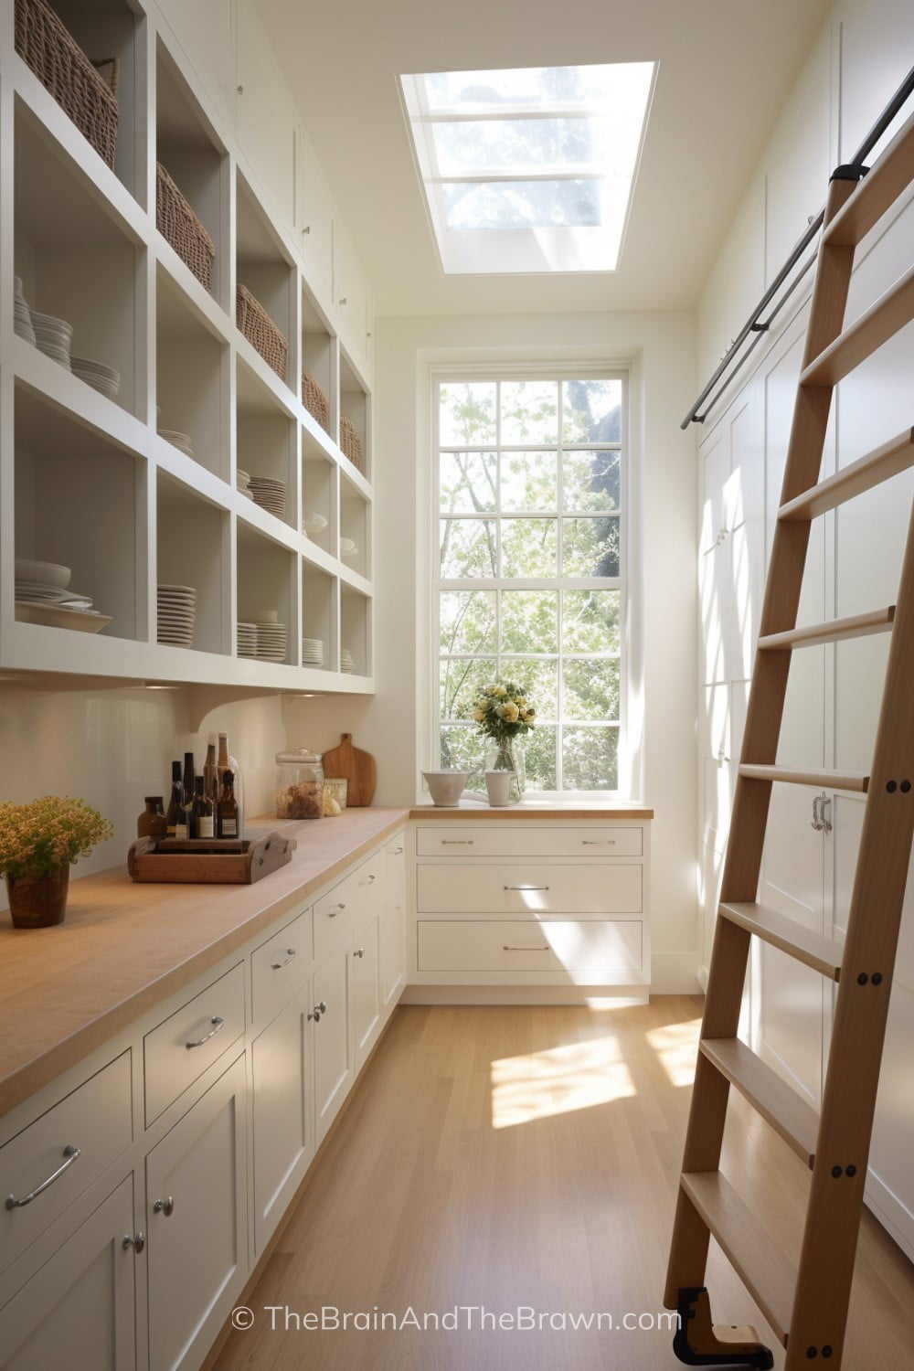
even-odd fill
[(597, 990), (645, 991), (650, 812), (643, 814), (419, 821), (410, 999), (473, 998), (470, 987), (478, 998), (512, 987), (517, 999), (523, 987), (530, 1001), (569, 1002)]

